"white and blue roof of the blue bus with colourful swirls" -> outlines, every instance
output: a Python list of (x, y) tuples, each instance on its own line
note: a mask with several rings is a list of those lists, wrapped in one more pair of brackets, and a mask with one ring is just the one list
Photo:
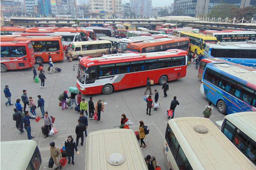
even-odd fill
[[(247, 84), (250, 83), (250, 87), (256, 89), (256, 69), (250, 68), (246, 69), (247, 66), (243, 66), (243, 68), (238, 67), (236, 65), (230, 65), (226, 63), (209, 63), (207, 66), (223, 71), (226, 74), (232, 75), (238, 78), (240, 83)], [(253, 70), (252, 70), (253, 69)], [(241, 81), (242, 80), (242, 81)]]

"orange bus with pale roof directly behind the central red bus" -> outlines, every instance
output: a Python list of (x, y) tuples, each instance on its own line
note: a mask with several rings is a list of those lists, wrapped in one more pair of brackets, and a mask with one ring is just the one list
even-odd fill
[(130, 43), (127, 46), (127, 53), (150, 53), (162, 52), (169, 49), (180, 49), (188, 52), (189, 38), (172, 37), (146, 40), (143, 42)]

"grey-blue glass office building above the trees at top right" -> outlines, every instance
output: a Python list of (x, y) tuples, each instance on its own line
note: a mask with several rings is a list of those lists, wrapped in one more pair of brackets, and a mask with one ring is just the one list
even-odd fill
[(256, 5), (256, 0), (174, 0), (174, 14), (179, 16), (204, 16), (214, 6), (232, 4), (240, 8)]

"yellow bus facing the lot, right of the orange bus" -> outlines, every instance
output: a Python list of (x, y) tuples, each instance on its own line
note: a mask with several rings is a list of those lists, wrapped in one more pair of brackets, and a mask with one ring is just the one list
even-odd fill
[(203, 54), (206, 43), (217, 43), (216, 37), (205, 34), (182, 31), (180, 36), (189, 38), (189, 51), (198, 55)]

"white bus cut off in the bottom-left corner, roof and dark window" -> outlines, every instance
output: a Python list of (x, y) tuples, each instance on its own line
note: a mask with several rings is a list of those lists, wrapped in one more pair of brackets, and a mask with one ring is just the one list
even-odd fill
[(1, 141), (2, 170), (41, 170), (41, 154), (34, 140)]

